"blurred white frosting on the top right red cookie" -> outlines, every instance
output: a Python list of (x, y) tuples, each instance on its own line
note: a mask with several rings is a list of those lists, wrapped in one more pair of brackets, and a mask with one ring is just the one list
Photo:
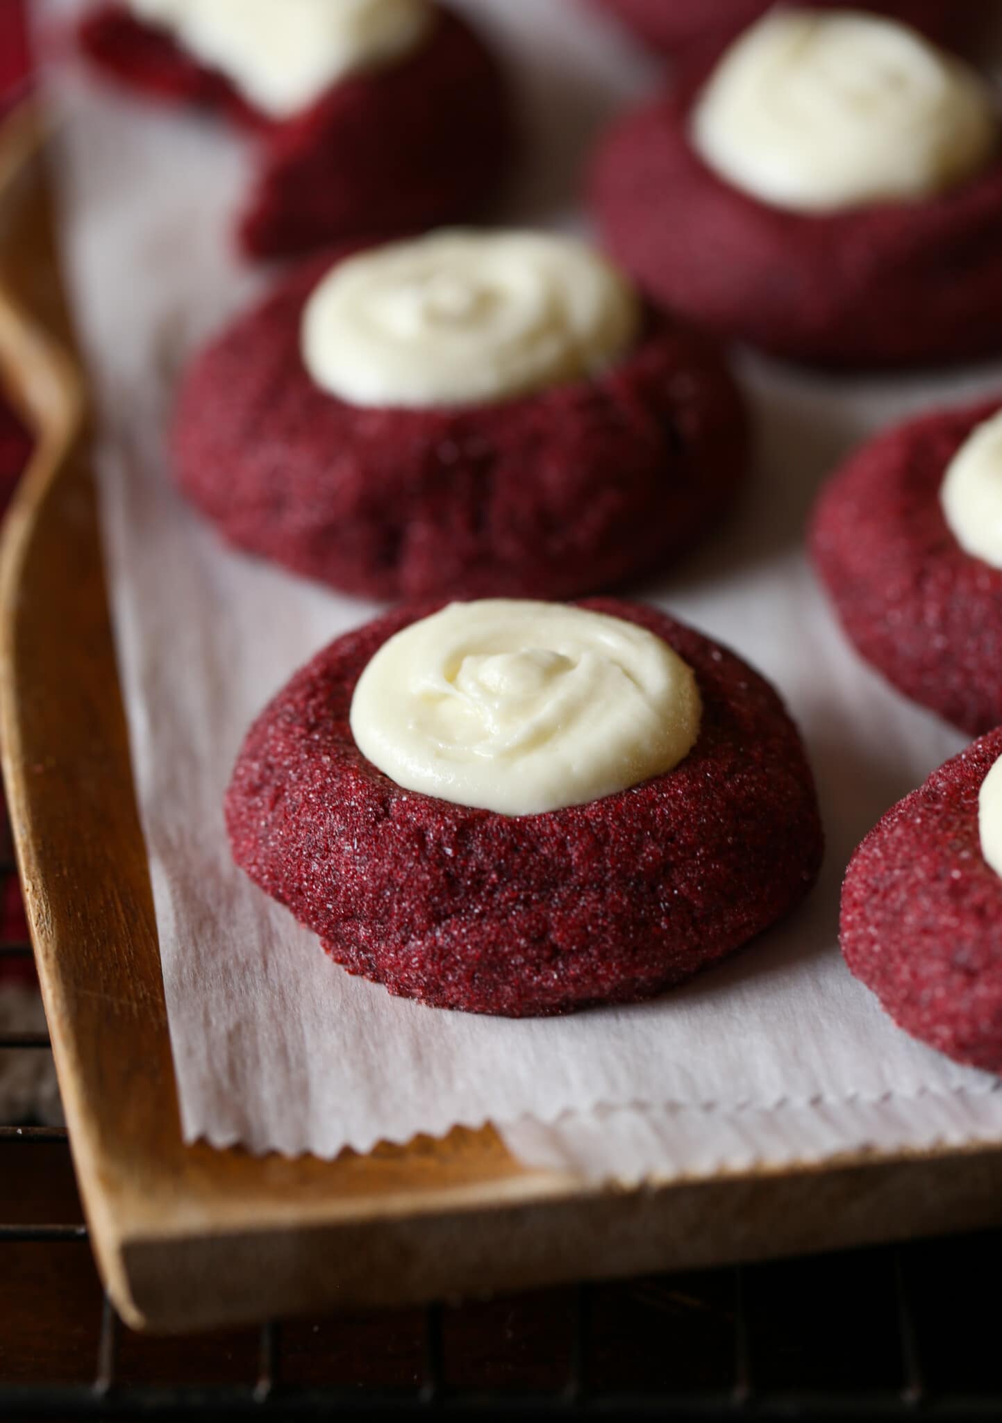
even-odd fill
[(944, 192), (988, 164), (998, 132), (988, 84), (914, 30), (780, 7), (721, 60), (691, 137), (735, 188), (834, 212)]

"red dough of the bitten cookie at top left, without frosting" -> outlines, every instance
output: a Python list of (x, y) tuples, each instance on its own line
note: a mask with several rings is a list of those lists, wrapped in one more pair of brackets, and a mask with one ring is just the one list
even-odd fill
[(505, 78), (446, 9), (412, 54), (337, 83), (289, 120), (252, 107), (125, 6), (91, 11), (81, 43), (114, 78), (215, 110), (256, 141), (259, 172), (239, 229), (252, 256), (466, 221), (486, 208), (510, 164)]

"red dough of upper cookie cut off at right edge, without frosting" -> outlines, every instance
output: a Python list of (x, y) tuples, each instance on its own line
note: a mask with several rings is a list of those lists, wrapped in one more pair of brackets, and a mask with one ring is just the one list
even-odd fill
[(998, 410), (996, 398), (937, 411), (863, 445), (823, 491), (810, 535), (857, 650), (972, 736), (1002, 721), (1002, 571), (961, 548), (939, 488)]

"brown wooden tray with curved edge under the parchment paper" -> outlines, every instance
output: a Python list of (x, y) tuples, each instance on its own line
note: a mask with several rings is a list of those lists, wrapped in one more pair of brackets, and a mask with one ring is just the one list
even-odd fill
[(0, 373), (38, 435), (3, 534), (0, 729), (74, 1163), (124, 1318), (192, 1329), (1002, 1222), (998, 1148), (624, 1191), (524, 1170), (489, 1128), (333, 1164), (182, 1144), (43, 148), (27, 111), (0, 137)]

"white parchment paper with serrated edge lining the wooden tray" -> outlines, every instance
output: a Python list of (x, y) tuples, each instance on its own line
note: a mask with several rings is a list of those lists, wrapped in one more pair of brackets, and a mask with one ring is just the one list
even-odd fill
[[(48, 0), (45, 16), (72, 9)], [(522, 75), (529, 169), (512, 216), (577, 221), (569, 194), (581, 154), (650, 87), (650, 63), (567, 0), (468, 9)], [(802, 552), (819, 481), (853, 443), (992, 388), (1002, 369), (873, 384), (742, 357), (760, 431), (753, 487), (708, 549), (642, 589), (756, 663), (800, 723), (829, 837), (803, 909), (659, 1002), (544, 1022), (419, 1007), (328, 962), (233, 867), (223, 831), (252, 717), (318, 646), (377, 612), (226, 551), (168, 475), (176, 371), (266, 280), (227, 246), (247, 157), (210, 124), (102, 90), (71, 60), (53, 67), (51, 85), (186, 1138), (327, 1157), (492, 1120), (529, 1161), (621, 1177), (1002, 1140), (996, 1079), (898, 1033), (839, 956), (849, 854), (962, 739), (854, 657)]]

